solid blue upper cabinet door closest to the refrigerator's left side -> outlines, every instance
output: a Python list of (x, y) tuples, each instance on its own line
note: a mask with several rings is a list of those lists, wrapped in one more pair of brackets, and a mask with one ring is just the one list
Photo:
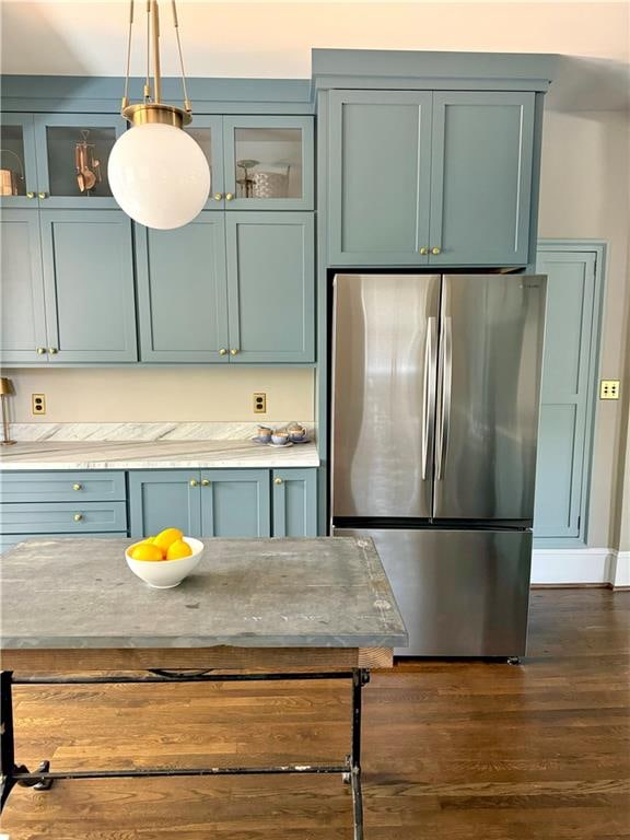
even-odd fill
[(312, 362), (312, 213), (230, 213), (226, 223), (231, 362)]

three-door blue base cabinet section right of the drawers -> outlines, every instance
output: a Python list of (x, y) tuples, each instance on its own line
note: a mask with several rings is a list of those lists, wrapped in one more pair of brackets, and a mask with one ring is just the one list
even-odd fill
[(130, 534), (173, 526), (191, 537), (315, 536), (316, 486), (315, 469), (129, 472)]

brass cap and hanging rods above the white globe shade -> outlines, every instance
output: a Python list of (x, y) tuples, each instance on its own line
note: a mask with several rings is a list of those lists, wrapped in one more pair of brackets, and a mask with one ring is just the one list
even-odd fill
[[(125, 74), (125, 94), (120, 106), (120, 113), (132, 126), (142, 126), (147, 122), (162, 122), (175, 128), (183, 128), (192, 120), (192, 104), (186, 90), (186, 73), (184, 71), (184, 57), (179, 40), (179, 22), (175, 0), (171, 0), (173, 10), (173, 25), (177, 39), (179, 54), (179, 67), (182, 68), (182, 86), (184, 91), (184, 107), (165, 105), (162, 102), (162, 77), (160, 73), (160, 10), (158, 0), (147, 0), (147, 79), (144, 81), (143, 102), (131, 105), (129, 103), (129, 68), (131, 62), (131, 30), (133, 26), (133, 0), (129, 3), (129, 37), (127, 42), (127, 70)], [(151, 55), (153, 56), (153, 91), (151, 91)]]

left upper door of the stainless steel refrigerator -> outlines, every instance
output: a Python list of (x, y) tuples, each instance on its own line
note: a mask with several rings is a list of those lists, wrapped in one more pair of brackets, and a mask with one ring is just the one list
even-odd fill
[(439, 296), (435, 276), (335, 278), (336, 516), (431, 515)]

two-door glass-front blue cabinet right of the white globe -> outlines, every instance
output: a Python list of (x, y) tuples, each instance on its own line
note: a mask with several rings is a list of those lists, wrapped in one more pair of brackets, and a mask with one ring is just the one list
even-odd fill
[(211, 172), (207, 210), (312, 210), (311, 117), (195, 117)]

